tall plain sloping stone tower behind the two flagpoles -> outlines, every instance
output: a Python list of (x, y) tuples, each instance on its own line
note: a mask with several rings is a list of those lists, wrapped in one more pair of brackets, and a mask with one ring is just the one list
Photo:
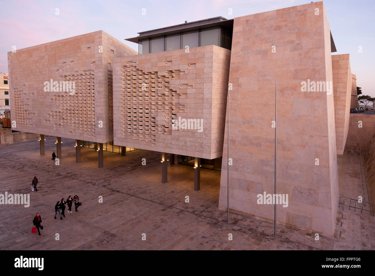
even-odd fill
[[(302, 92), (308, 79), (332, 81), (323, 2), (234, 18), (229, 208), (273, 220), (274, 205), (257, 204), (257, 195), (274, 191), (275, 113), (270, 110), (275, 110), (277, 80), (277, 193), (289, 195), (287, 208), (277, 206), (277, 222), (332, 235), (339, 199), (334, 99), (332, 93)], [(225, 131), (221, 209), (227, 207), (227, 141)]]

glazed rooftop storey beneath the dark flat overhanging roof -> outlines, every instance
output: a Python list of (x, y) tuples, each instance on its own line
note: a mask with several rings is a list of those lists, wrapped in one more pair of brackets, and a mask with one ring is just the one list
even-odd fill
[(148, 54), (189, 48), (216, 45), (232, 48), (233, 30), (224, 27), (212, 27), (196, 31), (175, 33), (157, 38), (143, 39), (138, 42), (138, 53)]

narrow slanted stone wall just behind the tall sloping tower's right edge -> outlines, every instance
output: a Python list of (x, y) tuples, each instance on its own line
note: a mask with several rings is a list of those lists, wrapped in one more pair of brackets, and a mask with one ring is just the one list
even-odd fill
[(352, 92), (349, 54), (332, 56), (332, 75), (337, 154), (343, 154), (345, 142), (348, 137)]

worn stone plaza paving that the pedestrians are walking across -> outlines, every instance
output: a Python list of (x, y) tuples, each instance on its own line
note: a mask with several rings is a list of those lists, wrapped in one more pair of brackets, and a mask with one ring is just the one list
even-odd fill
[[(316, 241), (311, 231), (278, 225), (273, 238), (272, 222), (254, 216), (231, 214), (231, 223), (226, 223), (226, 212), (217, 208), (219, 171), (202, 169), (201, 190), (195, 192), (189, 166), (168, 166), (168, 182), (160, 182), (159, 152), (104, 152), (104, 168), (98, 169), (96, 151), (81, 149), (82, 163), (77, 164), (74, 140), (62, 139), (62, 158), (56, 166), (51, 160), (54, 142), (46, 139), (46, 155), (39, 154), (37, 140), (0, 145), (0, 193), (30, 193), (31, 201), (28, 208), (0, 205), (1, 250), (375, 249), (375, 221), (369, 212), (341, 206), (334, 237)], [(368, 198), (361, 158), (347, 151), (338, 156), (340, 195), (357, 198), (365, 193)], [(30, 191), (33, 176), (39, 179), (38, 192)], [(55, 220), (56, 202), (76, 194), (83, 202), (78, 212), (72, 208), (66, 218)], [(42, 236), (31, 234), (36, 212), (45, 227)], [(55, 240), (56, 233), (60, 240)], [(229, 233), (233, 240), (228, 240)]]

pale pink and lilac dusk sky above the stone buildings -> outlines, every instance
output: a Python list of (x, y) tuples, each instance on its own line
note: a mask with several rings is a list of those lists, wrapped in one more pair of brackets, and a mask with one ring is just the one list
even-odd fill
[[(124, 41), (138, 32), (222, 16), (227, 19), (310, 3), (311, 0), (189, 1), (1, 1), (0, 71), (8, 72), (7, 52), (104, 30)], [(314, 1), (315, 2), (315, 1)], [(351, 72), (364, 95), (375, 97), (374, 0), (326, 0), (337, 52), (350, 54)], [(59, 15), (56, 15), (56, 9)], [(146, 15), (142, 15), (142, 8)], [(228, 15), (228, 9), (233, 15)], [(359, 53), (362, 46), (362, 53)]]

